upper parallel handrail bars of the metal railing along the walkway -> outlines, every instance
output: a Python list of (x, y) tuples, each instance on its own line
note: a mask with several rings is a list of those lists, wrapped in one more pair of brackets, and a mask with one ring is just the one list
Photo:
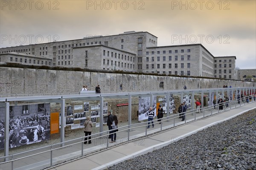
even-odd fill
[[(221, 105), (226, 105), (226, 104), (228, 103), (228, 104), (230, 104), (230, 110), (231, 110), (231, 109), (234, 109), (234, 108), (231, 107), (231, 103), (236, 103), (236, 102), (240, 101), (240, 106), (241, 106), (241, 101), (242, 101), (242, 100), (246, 100), (246, 99), (249, 100), (248, 102), (245, 101), (245, 102), (244, 102), (244, 105), (250, 104), (251, 102), (255, 102), (255, 99), (254, 99), (254, 101), (251, 101), (251, 102), (250, 102), (250, 97), (251, 97), (251, 100), (253, 100), (254, 97), (255, 97), (255, 95), (252, 94), (252, 95), (249, 95), (249, 96), (244, 96), (243, 98), (240, 98), (240, 99), (234, 99), (234, 100), (230, 100), (230, 101), (228, 101), (228, 102), (223, 102), (223, 103), (221, 103)], [(203, 111), (206, 111), (206, 110), (209, 110), (209, 109), (213, 109), (214, 106), (216, 107), (216, 106), (219, 106), (219, 105), (220, 105), (220, 104), (215, 104), (215, 105), (203, 107), (201, 111), (203, 112)], [(235, 107), (235, 108), (237, 108), (237, 107)], [(225, 108), (224, 108), (224, 109), (225, 109)], [(196, 109), (192, 109), (192, 110), (189, 110), (189, 111), (184, 112), (184, 113), (185, 113), (185, 114), (184, 114), (184, 115), (185, 115), (185, 122), (184, 122), (184, 123), (181, 122), (180, 124), (185, 125), (185, 124), (186, 124), (186, 115), (191, 114), (191, 113), (193, 114), (193, 113), (195, 113), (195, 111), (196, 111)], [(211, 115), (212, 115), (212, 114), (211, 114)], [(164, 117), (164, 118), (160, 118), (160, 119), (162, 119), (162, 120), (160, 120), (160, 119), (154, 119), (154, 121), (160, 120), (160, 122), (162, 123), (162, 122), (166, 122), (166, 121), (175, 119), (175, 118), (177, 118), (177, 117), (179, 117), (178, 114), (177, 114), (177, 116), (176, 116), (176, 115), (170, 115), (170, 116), (166, 116), (166, 117)], [(196, 117), (196, 115), (195, 115), (195, 117)], [(205, 116), (204, 116), (204, 117), (205, 117)], [(195, 120), (196, 120), (196, 119), (195, 119)], [(193, 121), (193, 120), (192, 120), (192, 121)], [(146, 125), (136, 126), (136, 125), (140, 125), (140, 124), (146, 124)], [(128, 126), (134, 126), (134, 127), (128, 127)], [(125, 125), (125, 126), (122, 126), (122, 127), (119, 127), (119, 128), (118, 128), (118, 129), (125, 128), (125, 129), (123, 129), (123, 130), (118, 131), (118, 133), (119, 133), (119, 132), (122, 132), (122, 131), (125, 131), (125, 130), (131, 130), (131, 129), (134, 129), (134, 128), (145, 127), (145, 126), (148, 126), (148, 125), (147, 125), (147, 122), (140, 122), (140, 123), (136, 123), (136, 124), (132, 124), (132, 125)], [(175, 125), (174, 125), (174, 126), (175, 126)], [(126, 127), (128, 127), (128, 128), (126, 128)], [(99, 133), (92, 134), (92, 135), (90, 135), (90, 136), (96, 136), (96, 135), (100, 135), (100, 136), (94, 137), (94, 138), (92, 138), (91, 140), (93, 140), (93, 139), (98, 139), (98, 138), (102, 138), (102, 137), (104, 137), (104, 136), (108, 136), (111, 131), (112, 131), (112, 130), (106, 130), (106, 131), (104, 131), (104, 132), (99, 132)], [(104, 133), (107, 133), (107, 134), (103, 135)], [(117, 132), (114, 132), (114, 133), (117, 133)], [(86, 136), (86, 137), (90, 137), (90, 136)], [(40, 153), (35, 153), (35, 154), (29, 155), (29, 156), (24, 156), (24, 157), (17, 158), (17, 159), (12, 159), (12, 160), (9, 160), (9, 161), (3, 161), (3, 162), (0, 162), (0, 164), (9, 163), (9, 162), (12, 162), (12, 163), (13, 163), (13, 161), (17, 161), (17, 160), (24, 159), (24, 158), (28, 158), (28, 157), (35, 156), (35, 155), (39, 155), (39, 154), (42, 154), (42, 153), (47, 153), (47, 152), (50, 152), (50, 151), (53, 151), (53, 150), (58, 150), (58, 149), (61, 149), (61, 148), (64, 148), (64, 147), (68, 147), (68, 146), (72, 146), (72, 145), (74, 145), (74, 144), (79, 144), (79, 143), (81, 143), (81, 142), (84, 142), (84, 141), (80, 141), (80, 142), (76, 142), (76, 143), (72, 143), (72, 144), (68, 144), (68, 145), (65, 145), (65, 146), (61, 146), (61, 147), (57, 147), (57, 148), (52, 149), (52, 146), (61, 145), (61, 144), (64, 144), (64, 143), (66, 143), (66, 142), (72, 142), (72, 141), (74, 141), (74, 140), (79, 140), (79, 139), (84, 139), (84, 136), (83, 136), (83, 137), (80, 137), (80, 138), (77, 138), (77, 139), (71, 139), (71, 140), (69, 140), (69, 141), (60, 142), (60, 143), (58, 143), (58, 144), (52, 144), (52, 145), (50, 145), (50, 146), (45, 146), (45, 147), (40, 147), (40, 148), (37, 148), (37, 149), (25, 151), (25, 152), (22, 152), (22, 153), (16, 153), (16, 154), (9, 155), (9, 156), (3, 156), (3, 157), (1, 157), (1, 159), (6, 159), (6, 158), (9, 158), (9, 157), (12, 157), (12, 158), (13, 158), (13, 156), (17, 156), (17, 155), (20, 155), (20, 154), (28, 153), (28, 152), (31, 152), (31, 151), (35, 151), (35, 150), (39, 150), (39, 149), (45, 149), (45, 148), (47, 148), (47, 147), (50, 147), (50, 148), (51, 148), (50, 150), (46, 150), (46, 151), (43, 151), (43, 152), (40, 152)], [(88, 140), (89, 140), (89, 139), (87, 139), (87, 141), (88, 141)], [(108, 145), (107, 145), (107, 148), (108, 148)]]

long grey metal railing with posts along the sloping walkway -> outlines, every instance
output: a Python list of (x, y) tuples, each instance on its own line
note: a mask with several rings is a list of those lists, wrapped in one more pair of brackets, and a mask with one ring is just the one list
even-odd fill
[[(250, 97), (251, 97), (251, 101), (250, 101)], [(248, 102), (246, 102), (247, 99), (249, 100)], [(244, 103), (243, 103), (243, 101), (244, 101)], [(223, 103), (221, 103), (221, 105), (223, 105), (223, 106), (226, 105), (226, 107), (223, 108), (224, 109), (223, 111), (228, 111), (228, 110), (231, 110), (231, 109), (235, 109), (235, 108), (247, 105), (251, 102), (255, 102), (255, 96), (254, 95), (246, 96), (246, 97), (243, 97), (239, 100), (235, 99), (235, 100), (230, 100), (228, 102), (223, 102)], [(227, 107), (227, 104), (228, 104), (228, 107)], [(197, 109), (186, 111), (186, 112), (184, 112), (184, 116), (185, 116), (184, 122), (175, 122), (175, 119), (177, 120), (178, 117), (180, 117), (179, 113), (177, 113), (176, 115), (166, 116), (166, 117), (163, 117), (161, 119), (154, 119), (154, 121), (160, 120), (160, 130), (157, 129), (157, 131), (160, 133), (163, 130), (169, 130), (170, 128), (175, 127), (177, 125), (185, 125), (188, 122), (193, 122), (195, 120), (202, 119), (202, 118), (220, 113), (220, 110), (218, 109), (218, 106), (220, 106), (220, 104), (211, 105), (211, 106), (208, 106), (208, 107), (201, 108), (200, 112), (203, 113), (203, 114), (195, 113)], [(214, 109), (216, 107), (217, 107), (218, 111), (216, 111), (216, 109)], [(194, 116), (194, 118), (193, 119), (188, 119), (187, 117), (189, 115)], [(163, 122), (171, 122), (171, 121), (172, 121), (172, 124), (168, 123), (168, 125), (163, 127)], [(131, 139), (130, 139), (131, 138), (131, 131), (135, 128), (145, 127), (145, 133), (135, 134), (134, 136), (137, 136), (137, 137), (133, 138), (132, 140), (137, 140), (137, 139), (141, 139), (142, 137), (147, 137), (148, 136), (148, 129), (147, 129), (148, 123), (151, 123), (151, 121), (150, 122), (141, 122), (141, 123), (136, 123), (136, 124), (132, 124), (132, 125), (126, 125), (126, 126), (119, 127), (118, 128), (119, 131), (114, 132), (114, 133), (122, 133), (122, 132), (127, 131), (127, 139), (126, 139), (125, 142), (119, 141), (119, 144), (115, 143), (115, 146), (130, 142), (131, 141)], [(155, 124), (156, 123), (154, 123), (154, 125)], [(86, 141), (89, 141), (88, 137), (92, 137), (92, 139), (90, 139), (90, 140), (96, 140), (96, 141), (98, 139), (100, 139), (100, 140), (103, 139), (103, 141), (104, 141), (104, 139), (107, 139), (107, 142), (102, 143), (102, 145), (100, 145), (100, 147), (98, 147), (96, 150), (90, 150), (91, 153), (88, 152), (89, 154), (84, 153), (84, 151), (86, 151), (86, 150), (84, 150), (84, 142), (85, 141), (84, 141), (84, 136), (83, 136), (83, 137), (80, 137), (80, 138), (77, 138), (77, 139), (72, 139), (72, 140), (61, 142), (61, 143), (58, 143), (58, 144), (52, 144), (52, 145), (49, 145), (49, 146), (40, 147), (40, 148), (33, 149), (33, 150), (28, 150), (28, 151), (25, 151), (25, 152), (22, 152), (22, 153), (13, 154), (13, 155), (10, 155), (10, 156), (3, 156), (3, 157), (0, 158), (0, 166), (1, 166), (1, 169), (4, 168), (4, 169), (13, 170), (13, 169), (15, 169), (14, 168), (14, 163), (15, 162), (17, 162), (17, 164), (19, 164), (22, 159), (29, 159), (29, 158), (33, 158), (34, 156), (38, 156), (38, 155), (40, 155), (40, 156), (47, 155), (48, 157), (46, 156), (46, 159), (41, 164), (41, 166), (38, 167), (38, 163), (35, 165), (35, 167), (33, 167), (33, 165), (30, 165), (31, 169), (36, 169), (36, 168), (45, 169), (45, 168), (49, 168), (49, 167), (54, 167), (58, 164), (62, 164), (66, 161), (70, 161), (70, 160), (73, 160), (73, 159), (89, 156), (91, 154), (99, 153), (102, 150), (106, 150), (106, 149), (110, 148), (109, 142), (108, 142), (108, 136), (110, 135), (111, 131), (112, 130), (106, 130), (104, 132), (99, 132), (99, 133), (92, 134), (90, 136), (86, 136), (87, 137)], [(156, 131), (154, 131), (153, 133), (155, 133), (155, 132)], [(114, 134), (114, 133), (111, 133), (111, 134)], [(94, 137), (94, 136), (96, 136), (96, 137)], [(103, 144), (105, 144), (105, 146), (103, 146)], [(73, 156), (69, 159), (63, 159), (63, 160), (55, 159), (54, 160), (53, 155), (58, 150), (63, 150), (65, 148), (69, 148), (69, 147), (74, 147), (75, 148), (75, 147), (78, 147), (79, 145), (81, 145), (81, 147), (79, 147), (77, 152), (80, 152), (80, 154), (77, 154), (76, 156)], [(40, 151), (40, 150), (44, 150), (44, 151)], [(35, 152), (39, 152), (39, 153), (35, 153)], [(28, 156), (24, 156), (24, 155), (28, 155)], [(20, 167), (20, 166), (18, 166), (18, 167)], [(26, 167), (26, 168), (29, 169), (29, 167)]]

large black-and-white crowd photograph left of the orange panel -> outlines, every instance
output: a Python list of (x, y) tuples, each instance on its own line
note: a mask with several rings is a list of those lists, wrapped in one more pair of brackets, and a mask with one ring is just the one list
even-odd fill
[[(50, 139), (50, 116), (45, 115), (50, 112), (50, 103), (16, 105), (9, 109), (9, 148)], [(4, 148), (4, 125), (0, 120), (0, 150)]]

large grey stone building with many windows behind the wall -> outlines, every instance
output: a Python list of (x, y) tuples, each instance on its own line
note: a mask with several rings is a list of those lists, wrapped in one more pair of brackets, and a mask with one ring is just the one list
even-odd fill
[(0, 48), (0, 62), (14, 62), (12, 52), (52, 60), (42, 65), (235, 79), (235, 56), (214, 57), (202, 44), (157, 46), (144, 31)]

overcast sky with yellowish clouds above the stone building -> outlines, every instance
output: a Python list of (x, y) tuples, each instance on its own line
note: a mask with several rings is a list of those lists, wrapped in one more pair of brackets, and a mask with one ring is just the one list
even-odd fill
[(1, 48), (148, 31), (157, 46), (201, 43), (256, 68), (255, 0), (1, 0)]

